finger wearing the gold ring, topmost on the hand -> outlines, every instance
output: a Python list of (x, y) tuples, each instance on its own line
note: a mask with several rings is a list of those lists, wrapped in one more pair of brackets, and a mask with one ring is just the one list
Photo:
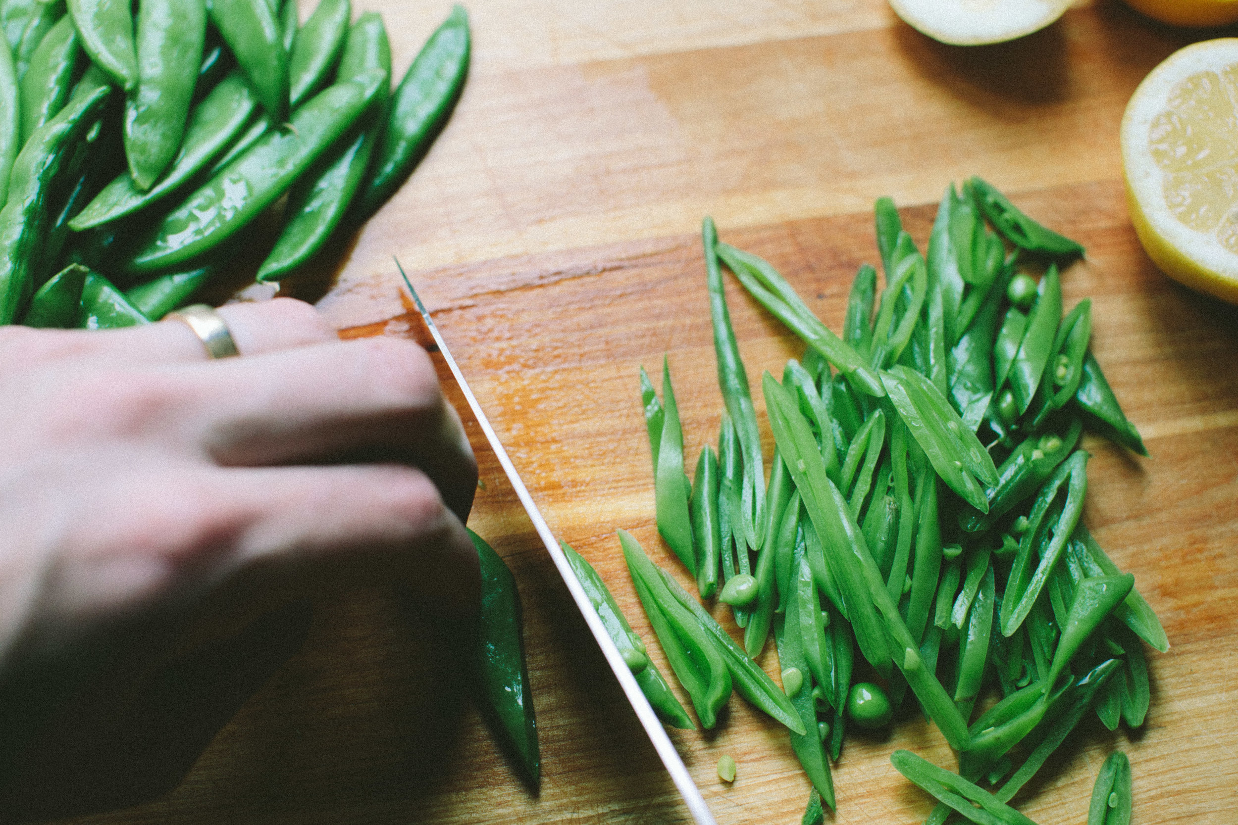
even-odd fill
[[(218, 312), (241, 355), (337, 339), (335, 331), (317, 309), (293, 298), (225, 304)], [(124, 329), (22, 330), (5, 341), (6, 353), (12, 353), (14, 348), (25, 356), (25, 362), (95, 357), (136, 365), (208, 359), (197, 334), (175, 318)]]

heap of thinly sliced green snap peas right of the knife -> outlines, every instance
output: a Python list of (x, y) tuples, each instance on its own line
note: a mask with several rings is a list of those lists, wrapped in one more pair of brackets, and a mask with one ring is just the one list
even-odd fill
[[(701, 724), (734, 689), (790, 730), (813, 787), (806, 824), (834, 806), (829, 761), (846, 726), (916, 706), (958, 754), (957, 773), (891, 757), (940, 800), (928, 823), (1030, 823), (1008, 804), (1015, 793), (1089, 711), (1109, 730), (1139, 727), (1143, 644), (1169, 648), (1134, 576), (1080, 521), (1082, 430), (1146, 451), (1088, 350), (1091, 302), (1062, 315), (1057, 267), (1078, 244), (979, 178), (946, 190), (926, 255), (888, 198), (877, 237), (885, 287), (878, 296), (877, 271), (859, 270), (838, 336), (706, 219), (725, 412), (692, 481), (670, 370), (661, 400), (641, 370), (659, 532), (701, 599), (729, 605), (743, 646), (624, 531), (620, 544)], [(722, 265), (808, 345), (781, 382), (761, 381), (768, 484)], [(654, 709), (693, 727), (605, 585), (568, 555)], [(753, 662), (770, 632), (781, 690)], [(1130, 767), (1115, 752), (1088, 823), (1129, 818)]]

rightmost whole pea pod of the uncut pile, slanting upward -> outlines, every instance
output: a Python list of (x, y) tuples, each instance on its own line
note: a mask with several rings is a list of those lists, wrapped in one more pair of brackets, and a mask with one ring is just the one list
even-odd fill
[(468, 12), (452, 6), (391, 98), (369, 177), (357, 195), (358, 224), (395, 194), (447, 122), (468, 74), (469, 51)]

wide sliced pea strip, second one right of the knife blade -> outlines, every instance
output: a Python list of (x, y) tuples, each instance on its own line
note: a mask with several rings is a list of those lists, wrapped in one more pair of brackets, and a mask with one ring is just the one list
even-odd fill
[[(711, 637), (708, 628), (667, 589), (670, 576), (661, 575), (661, 569), (649, 560), (628, 531), (619, 531), (619, 545), (628, 562), (628, 573), (631, 574), (636, 595), (671, 669), (692, 698), (701, 726), (713, 727), (718, 722), (718, 710), (727, 704), (732, 689), (730, 670), (723, 651), (717, 639)], [(691, 596), (688, 601), (696, 604)]]

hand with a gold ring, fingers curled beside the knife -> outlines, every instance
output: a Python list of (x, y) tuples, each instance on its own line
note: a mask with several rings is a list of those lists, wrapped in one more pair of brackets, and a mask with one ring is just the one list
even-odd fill
[(295, 651), (317, 592), (399, 581), (475, 610), (477, 465), (425, 351), (339, 341), (288, 299), (219, 312), (241, 357), (177, 320), (0, 329), (0, 809), (80, 779), (82, 743), (129, 730), (109, 703), (194, 651)]

